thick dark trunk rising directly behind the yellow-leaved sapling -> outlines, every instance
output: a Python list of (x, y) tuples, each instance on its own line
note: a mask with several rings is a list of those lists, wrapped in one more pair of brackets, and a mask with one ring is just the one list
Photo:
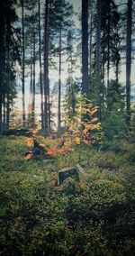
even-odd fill
[(82, 0), (82, 93), (89, 95), (88, 81), (88, 0)]

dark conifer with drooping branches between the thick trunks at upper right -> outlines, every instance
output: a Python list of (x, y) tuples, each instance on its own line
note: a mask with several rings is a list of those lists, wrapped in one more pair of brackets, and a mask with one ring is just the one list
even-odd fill
[[(118, 33), (120, 14), (117, 5), (113, 0), (101, 2), (101, 53), (103, 62), (103, 76), (107, 77), (107, 87), (110, 83), (110, 69), (111, 65), (116, 65), (120, 62), (119, 41), (120, 35)], [(116, 47), (118, 46), (118, 48)], [(119, 60), (116, 62), (116, 57)]]

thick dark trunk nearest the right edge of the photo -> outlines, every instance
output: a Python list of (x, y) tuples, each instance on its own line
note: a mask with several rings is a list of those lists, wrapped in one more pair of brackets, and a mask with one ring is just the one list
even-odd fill
[(131, 14), (132, 14), (132, 0), (128, 0), (127, 39), (126, 39), (126, 94), (127, 94), (126, 108), (127, 108), (128, 124), (130, 124)]

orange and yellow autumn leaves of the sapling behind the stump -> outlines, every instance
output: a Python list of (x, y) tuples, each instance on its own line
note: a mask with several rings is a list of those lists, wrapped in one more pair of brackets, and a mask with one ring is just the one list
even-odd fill
[[(101, 123), (96, 116), (98, 107), (94, 106), (90, 100), (83, 99), (82, 103), (77, 106), (76, 115), (67, 123), (67, 133), (63, 133), (61, 138), (57, 139), (56, 134), (50, 134), (44, 137), (39, 134), (39, 128), (31, 129), (32, 138), (26, 140), (27, 146), (33, 145), (33, 140), (43, 139), (41, 144), (45, 151), (45, 157), (67, 155), (68, 151), (73, 150), (73, 146), (85, 143), (87, 145), (101, 141)], [(43, 142), (43, 141), (42, 141)], [(53, 142), (53, 145), (52, 145)], [(31, 153), (25, 157), (31, 159)]]

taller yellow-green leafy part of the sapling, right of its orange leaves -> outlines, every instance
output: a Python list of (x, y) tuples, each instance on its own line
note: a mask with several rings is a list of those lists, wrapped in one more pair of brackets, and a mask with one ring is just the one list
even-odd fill
[(76, 143), (92, 144), (101, 142), (103, 133), (98, 122), (98, 107), (88, 100), (85, 95), (76, 96), (74, 114), (67, 115), (67, 131), (76, 138)]

